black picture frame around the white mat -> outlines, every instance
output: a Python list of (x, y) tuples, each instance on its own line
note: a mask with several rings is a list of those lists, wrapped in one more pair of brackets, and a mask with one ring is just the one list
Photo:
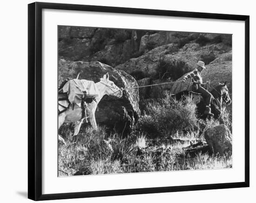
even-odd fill
[[(244, 182), (200, 184), (170, 187), (134, 188), (42, 194), (42, 9), (126, 13), (156, 16), (227, 19), (245, 22), (245, 174)], [(188, 190), (211, 190), (249, 187), (249, 16), (216, 13), (196, 13), (141, 8), (88, 6), (34, 2), (28, 5), (28, 198), (53, 200), (81, 197), (102, 197)]]

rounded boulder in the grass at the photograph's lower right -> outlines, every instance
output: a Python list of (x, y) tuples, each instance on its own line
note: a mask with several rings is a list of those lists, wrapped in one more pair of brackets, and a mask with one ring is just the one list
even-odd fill
[(204, 138), (213, 153), (223, 156), (232, 152), (232, 134), (224, 124), (207, 129)]

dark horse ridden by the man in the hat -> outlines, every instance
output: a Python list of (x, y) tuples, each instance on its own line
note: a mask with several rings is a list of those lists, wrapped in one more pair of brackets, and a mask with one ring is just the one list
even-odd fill
[[(212, 95), (211, 112), (212, 114), (214, 114), (214, 118), (217, 119), (221, 115), (223, 105), (231, 104), (227, 82), (224, 82), (224, 83), (219, 82), (216, 87), (212, 88), (210, 93)], [(192, 96), (193, 100), (195, 101), (196, 107), (197, 107), (197, 113), (200, 115), (200, 117), (201, 118), (208, 117), (203, 114), (205, 110), (205, 103), (201, 94), (195, 93), (193, 91), (184, 90), (175, 95), (172, 95), (172, 97), (175, 98), (176, 100), (181, 100), (182, 98), (184, 98), (184, 96), (187, 96), (187, 95)]]

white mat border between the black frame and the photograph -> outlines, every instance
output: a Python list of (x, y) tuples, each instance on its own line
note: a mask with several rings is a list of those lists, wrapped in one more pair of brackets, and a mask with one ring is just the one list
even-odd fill
[[(244, 181), (244, 22), (48, 9), (42, 12), (42, 22), (43, 194)], [(57, 25), (233, 34), (233, 169), (58, 178)]]

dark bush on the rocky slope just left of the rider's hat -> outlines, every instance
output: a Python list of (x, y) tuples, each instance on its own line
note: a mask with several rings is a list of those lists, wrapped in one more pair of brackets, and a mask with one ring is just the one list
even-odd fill
[(191, 70), (192, 68), (181, 59), (173, 59), (171, 55), (164, 55), (158, 61), (156, 77), (159, 79), (171, 77), (176, 80)]

